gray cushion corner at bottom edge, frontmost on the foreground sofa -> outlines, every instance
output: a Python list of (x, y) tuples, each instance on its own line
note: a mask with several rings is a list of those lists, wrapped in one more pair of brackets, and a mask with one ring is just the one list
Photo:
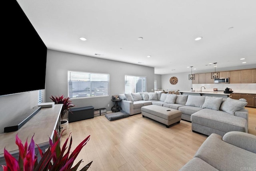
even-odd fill
[(202, 159), (194, 157), (186, 165), (184, 165), (179, 171), (218, 171), (218, 169), (212, 167)]

